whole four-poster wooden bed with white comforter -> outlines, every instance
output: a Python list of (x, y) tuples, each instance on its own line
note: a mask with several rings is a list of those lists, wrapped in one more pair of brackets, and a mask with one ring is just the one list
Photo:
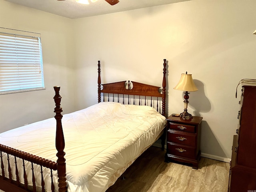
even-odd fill
[(159, 138), (164, 149), (163, 65), (160, 92), (131, 81), (101, 84), (98, 61), (98, 104), (63, 116), (55, 86), (54, 118), (0, 134), (0, 190), (104, 192)]

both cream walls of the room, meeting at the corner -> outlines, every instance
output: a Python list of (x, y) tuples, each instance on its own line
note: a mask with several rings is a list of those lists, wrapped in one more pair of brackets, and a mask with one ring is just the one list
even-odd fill
[(62, 86), (64, 113), (97, 103), (98, 60), (102, 83), (161, 86), (166, 58), (168, 114), (183, 110), (183, 94), (173, 87), (188, 71), (199, 89), (190, 93), (188, 112), (203, 117), (202, 153), (231, 158), (236, 85), (255, 78), (255, 7), (252, 0), (192, 0), (70, 20), (0, 0), (1, 27), (42, 34), (47, 88), (0, 95), (0, 132), (53, 116), (54, 85)]

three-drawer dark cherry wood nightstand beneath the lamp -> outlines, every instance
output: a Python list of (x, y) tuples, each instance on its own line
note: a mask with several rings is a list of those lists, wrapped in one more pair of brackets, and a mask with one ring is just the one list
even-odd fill
[(177, 161), (192, 164), (198, 169), (200, 160), (200, 136), (202, 117), (193, 116), (184, 120), (177, 116), (169, 116), (167, 125), (167, 149), (165, 161)]

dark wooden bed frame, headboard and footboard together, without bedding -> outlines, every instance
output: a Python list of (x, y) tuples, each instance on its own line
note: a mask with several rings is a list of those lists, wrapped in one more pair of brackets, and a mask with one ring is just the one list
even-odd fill
[[(166, 104), (166, 59), (164, 59), (164, 69), (163, 69), (163, 81), (162, 81), (162, 93), (159, 92), (160, 87), (157, 86), (151, 86), (151, 85), (146, 85), (146, 84), (141, 84), (137, 82), (132, 82), (133, 87), (130, 88), (130, 81), (128, 82), (128, 89), (125, 88), (124, 84), (126, 81), (123, 82), (115, 82), (115, 83), (110, 83), (110, 84), (102, 84), (103, 89), (101, 89), (101, 79), (100, 79), (100, 61), (98, 61), (98, 102), (101, 102), (101, 93), (103, 93), (103, 98), (104, 98), (104, 93), (108, 94), (108, 99), (109, 99), (109, 94), (113, 94), (113, 100), (114, 100), (114, 94), (118, 94), (118, 102), (119, 102), (119, 94), (122, 95), (128, 95), (128, 102), (130, 102), (130, 95), (133, 95), (133, 102), (134, 101), (134, 95), (136, 96), (144, 96), (145, 97), (145, 105), (146, 105), (146, 96), (151, 97), (161, 97), (162, 98), (162, 115), (165, 116), (165, 104)], [(36, 192), (36, 180), (34, 176), (34, 168), (33, 164), (37, 164), (41, 166), (41, 186), (42, 186), (42, 192), (45, 191), (44, 186), (44, 180), (43, 180), (43, 171), (42, 167), (49, 168), (51, 170), (51, 178), (52, 178), (52, 171), (57, 170), (58, 172), (58, 191), (59, 192), (66, 192), (67, 191), (67, 183), (66, 183), (66, 160), (64, 158), (65, 152), (65, 141), (64, 141), (64, 134), (62, 130), (62, 108), (60, 107), (60, 101), (61, 101), (61, 96), (59, 94), (60, 91), (60, 86), (54, 86), (55, 90), (55, 96), (54, 96), (54, 102), (56, 107), (54, 108), (54, 112), (56, 115), (54, 118), (56, 119), (56, 150), (58, 151), (56, 156), (58, 157), (57, 162), (53, 162), (50, 160), (47, 160), (45, 158), (41, 158), (14, 148), (10, 148), (8, 146), (4, 146), (0, 144), (0, 158), (1, 158), (1, 169), (2, 169), (2, 176), (0, 176), (0, 190), (4, 190), (5, 192), (27, 192), (27, 191), (33, 191)], [(123, 96), (124, 98), (124, 96)], [(123, 99), (124, 103), (124, 99)], [(128, 103), (130, 104), (130, 103)], [(140, 104), (140, 103), (139, 103)], [(151, 102), (152, 106), (152, 102)], [(157, 106), (158, 110), (158, 106)], [(165, 131), (164, 134), (162, 134), (162, 149), (164, 147), (164, 142), (165, 142)], [(3, 163), (3, 156), (2, 153), (7, 154), (7, 160), (8, 160), (8, 173), (4, 172), (4, 163)], [(15, 170), (11, 169), (10, 166), (10, 158), (9, 156), (14, 156), (15, 160)], [(20, 158), (23, 161), (23, 170), (24, 174), (19, 175), (18, 172), (18, 167), (17, 167), (17, 162), (16, 158)], [(30, 187), (28, 186), (28, 178), (26, 175), (25, 171), (25, 161), (27, 163), (31, 163), (31, 170), (32, 170), (32, 183), (33, 186)], [(15, 172), (16, 174), (16, 180), (12, 180), (12, 172)], [(9, 178), (6, 177), (8, 175)], [(24, 178), (24, 184), (20, 182), (20, 178)], [(54, 184), (53, 180), (51, 183), (51, 189), (52, 192), (54, 192)]]

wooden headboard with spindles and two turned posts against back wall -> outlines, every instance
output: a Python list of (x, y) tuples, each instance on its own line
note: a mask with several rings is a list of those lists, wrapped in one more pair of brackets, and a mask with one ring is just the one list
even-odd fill
[[(101, 102), (101, 93), (103, 93), (103, 101), (104, 100), (104, 93), (108, 94), (108, 101), (109, 101), (109, 94), (112, 94), (113, 101), (114, 101), (114, 94), (117, 95), (117, 102), (120, 102), (120, 95), (122, 95), (122, 103), (124, 103), (124, 95), (128, 96), (128, 104), (135, 104), (135, 97), (139, 96), (139, 105), (143, 105), (140, 102), (141, 99), (144, 99), (144, 105), (146, 105), (146, 97), (151, 97), (150, 106), (152, 106), (152, 97), (162, 98), (162, 115), (166, 115), (165, 111), (165, 104), (166, 104), (166, 59), (164, 59), (164, 69), (163, 69), (163, 80), (162, 80), (162, 91), (158, 86), (152, 86), (148, 84), (132, 82), (128, 81), (121, 81), (121, 82), (114, 82), (114, 83), (107, 83), (101, 84), (100, 79), (100, 61), (98, 61), (98, 102)], [(130, 102), (130, 99), (133, 98), (133, 102)], [(158, 101), (156, 109), (158, 110)]]

